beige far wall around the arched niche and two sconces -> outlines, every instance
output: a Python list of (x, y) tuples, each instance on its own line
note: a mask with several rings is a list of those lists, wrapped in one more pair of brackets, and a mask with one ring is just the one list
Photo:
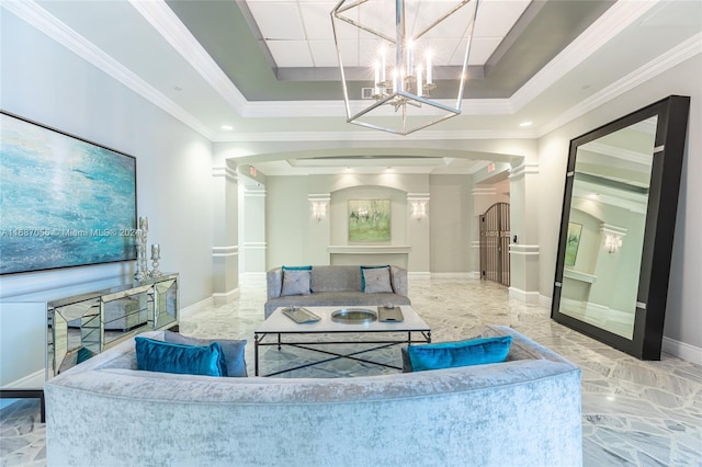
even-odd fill
[[(347, 201), (376, 197), (393, 200), (388, 244), (412, 248), (411, 272), (471, 271), (469, 231), (475, 226), (469, 175), (267, 176), (265, 183), (268, 267), (326, 263), (329, 244), (348, 244)], [(430, 196), (428, 217), (420, 223), (410, 218), (407, 193)], [(320, 223), (310, 220), (309, 194), (330, 195)]]

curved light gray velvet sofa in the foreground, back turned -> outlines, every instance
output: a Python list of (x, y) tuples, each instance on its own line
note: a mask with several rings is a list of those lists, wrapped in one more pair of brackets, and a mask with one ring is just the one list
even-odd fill
[(336, 379), (140, 372), (132, 339), (46, 383), (47, 463), (580, 466), (580, 369), (484, 334), (508, 362)]

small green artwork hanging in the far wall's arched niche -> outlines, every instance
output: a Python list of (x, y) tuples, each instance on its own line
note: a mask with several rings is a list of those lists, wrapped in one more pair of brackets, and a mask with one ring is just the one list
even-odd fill
[(349, 201), (349, 241), (389, 241), (389, 200)]

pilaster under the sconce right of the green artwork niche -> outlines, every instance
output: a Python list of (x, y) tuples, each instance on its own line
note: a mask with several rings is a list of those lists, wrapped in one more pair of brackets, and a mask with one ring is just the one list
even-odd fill
[(429, 193), (407, 193), (407, 240), (411, 247), (407, 271), (429, 275)]

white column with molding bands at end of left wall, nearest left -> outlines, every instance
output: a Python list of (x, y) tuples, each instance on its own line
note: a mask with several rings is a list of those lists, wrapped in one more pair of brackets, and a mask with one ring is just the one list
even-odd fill
[(212, 169), (212, 282), (215, 305), (239, 293), (238, 175), (228, 166)]

